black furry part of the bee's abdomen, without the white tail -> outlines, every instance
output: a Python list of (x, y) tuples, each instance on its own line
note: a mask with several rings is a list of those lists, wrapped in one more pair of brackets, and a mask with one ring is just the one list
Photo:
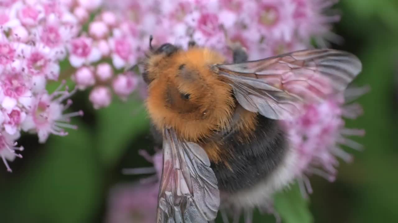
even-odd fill
[(250, 188), (269, 176), (282, 162), (286, 151), (285, 134), (277, 120), (257, 115), (257, 125), (247, 143), (244, 133), (233, 132), (223, 142), (223, 162), (212, 163), (219, 189), (234, 193)]

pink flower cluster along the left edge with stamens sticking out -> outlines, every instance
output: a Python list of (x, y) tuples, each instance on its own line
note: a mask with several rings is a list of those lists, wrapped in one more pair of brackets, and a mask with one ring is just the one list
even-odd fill
[(21, 157), (16, 140), (21, 131), (37, 133), (43, 143), (50, 134), (67, 135), (72, 103), (64, 83), (53, 93), (45, 89), (57, 81), (59, 61), (66, 57), (67, 42), (77, 35), (74, 16), (56, 1), (8, 0), (0, 3), (0, 157)]

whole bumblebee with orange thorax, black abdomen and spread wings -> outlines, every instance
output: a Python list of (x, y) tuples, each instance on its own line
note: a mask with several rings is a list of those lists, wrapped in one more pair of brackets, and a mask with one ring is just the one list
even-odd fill
[(206, 223), (219, 208), (260, 205), (293, 181), (295, 153), (278, 119), (345, 90), (359, 59), (332, 49), (233, 63), (209, 48), (170, 43), (144, 62), (146, 108), (163, 147), (158, 223)]

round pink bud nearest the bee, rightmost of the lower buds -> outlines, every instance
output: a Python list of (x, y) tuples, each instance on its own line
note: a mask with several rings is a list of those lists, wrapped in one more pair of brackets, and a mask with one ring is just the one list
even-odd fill
[(137, 83), (137, 77), (133, 76), (132, 73), (129, 72), (127, 74), (120, 74), (113, 79), (112, 87), (115, 93), (125, 100), (137, 87)]

